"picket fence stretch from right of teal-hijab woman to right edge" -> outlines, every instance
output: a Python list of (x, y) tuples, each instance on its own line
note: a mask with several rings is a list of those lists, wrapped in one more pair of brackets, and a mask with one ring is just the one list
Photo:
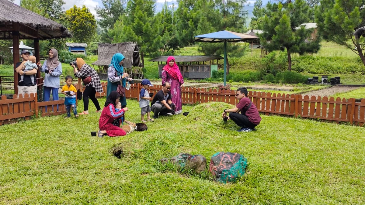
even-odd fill
[[(126, 90), (127, 98), (139, 100), (141, 84), (131, 85)], [(156, 94), (162, 85), (149, 88), (150, 93)], [(105, 89), (106, 90), (106, 89)], [(204, 89), (183, 87), (181, 91), (183, 104), (200, 104), (206, 102), (238, 103), (235, 90)], [(248, 97), (265, 115), (283, 115), (302, 118), (327, 120), (331, 122), (345, 122), (357, 126), (365, 124), (365, 99), (356, 102), (354, 98), (341, 99), (334, 97), (302, 96), (300, 94), (281, 94), (249, 91)]]

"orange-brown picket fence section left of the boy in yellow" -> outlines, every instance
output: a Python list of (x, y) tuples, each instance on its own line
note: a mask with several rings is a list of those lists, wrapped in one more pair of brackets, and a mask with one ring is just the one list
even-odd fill
[(13, 95), (12, 99), (1, 96), (0, 125), (15, 123), (19, 119), (29, 120), (31, 116), (55, 116), (66, 113), (65, 100), (38, 102), (37, 94)]

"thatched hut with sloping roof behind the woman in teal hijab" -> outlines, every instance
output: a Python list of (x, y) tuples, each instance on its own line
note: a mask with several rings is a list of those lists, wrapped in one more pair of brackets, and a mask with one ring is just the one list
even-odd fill
[(126, 57), (124, 59), (124, 72), (131, 74), (132, 78), (143, 78), (141, 57), (139, 56), (139, 48), (137, 43), (100, 43), (97, 51), (97, 61), (92, 65), (97, 66), (95, 69), (100, 79), (108, 79), (108, 67), (112, 57), (116, 53), (121, 53)]

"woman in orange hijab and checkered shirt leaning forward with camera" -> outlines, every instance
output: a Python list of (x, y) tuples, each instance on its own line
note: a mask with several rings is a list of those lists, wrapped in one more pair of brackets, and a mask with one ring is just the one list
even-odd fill
[(96, 112), (101, 112), (101, 108), (99, 105), (99, 101), (97, 101), (95, 94), (96, 92), (102, 93), (103, 87), (101, 87), (99, 75), (96, 71), (85, 63), (84, 59), (76, 58), (76, 66), (73, 63), (70, 63), (73, 67), (73, 73), (76, 77), (81, 78), (84, 84), (86, 84), (86, 88), (82, 97), (84, 98), (84, 111), (78, 113), (79, 115), (88, 115), (89, 114), (89, 98), (94, 103), (96, 107)]

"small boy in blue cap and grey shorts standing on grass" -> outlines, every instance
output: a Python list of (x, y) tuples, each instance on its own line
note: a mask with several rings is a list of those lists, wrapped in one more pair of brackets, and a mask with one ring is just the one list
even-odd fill
[(143, 123), (146, 122), (145, 115), (147, 113), (148, 121), (153, 122), (154, 120), (151, 119), (151, 107), (150, 107), (150, 99), (152, 98), (148, 93), (148, 88), (153, 86), (151, 81), (148, 79), (143, 79), (142, 81), (143, 88), (139, 93), (139, 107), (141, 108), (141, 120)]

